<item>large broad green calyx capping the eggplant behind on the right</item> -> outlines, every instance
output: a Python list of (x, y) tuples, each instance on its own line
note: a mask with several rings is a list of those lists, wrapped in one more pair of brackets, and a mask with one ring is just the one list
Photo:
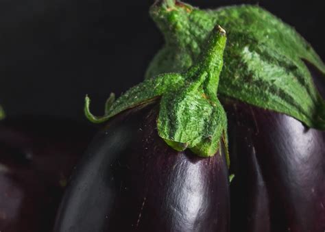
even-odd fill
[(218, 94), (287, 114), (325, 129), (325, 102), (303, 60), (322, 73), (320, 57), (292, 27), (252, 5), (200, 10), (179, 1), (160, 1), (150, 14), (165, 36), (146, 78), (182, 72), (198, 59), (209, 31), (228, 34)]

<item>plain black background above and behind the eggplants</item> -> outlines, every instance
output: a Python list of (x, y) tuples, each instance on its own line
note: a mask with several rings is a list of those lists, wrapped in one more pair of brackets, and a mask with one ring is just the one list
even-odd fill
[[(296, 27), (325, 57), (324, 2), (186, 1), (202, 8), (258, 3)], [(149, 18), (153, 0), (0, 1), (0, 103), (9, 116), (45, 114), (84, 120), (84, 95), (101, 114), (110, 92), (143, 79), (163, 44)]]

